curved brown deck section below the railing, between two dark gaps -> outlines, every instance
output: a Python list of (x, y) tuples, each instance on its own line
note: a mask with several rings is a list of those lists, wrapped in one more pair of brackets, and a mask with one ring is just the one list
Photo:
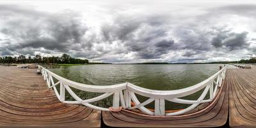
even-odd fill
[[(227, 70), (230, 77), (230, 70)], [(102, 120), (109, 127), (221, 127), (228, 120), (228, 81), (224, 81), (216, 98), (205, 108), (179, 116), (148, 116), (123, 110), (103, 111)]]

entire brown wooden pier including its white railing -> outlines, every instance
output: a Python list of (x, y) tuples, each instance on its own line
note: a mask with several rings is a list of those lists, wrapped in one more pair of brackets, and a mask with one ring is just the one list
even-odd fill
[[(43, 76), (46, 72), (47, 70), (42, 72)], [(76, 94), (70, 92), (67, 86), (68, 83), (72, 83), (83, 90), (79, 86), (80, 84), (65, 79), (62, 80), (61, 77), (51, 72), (48, 72), (45, 76), (46, 82), (41, 75), (36, 74), (36, 69), (0, 66), (0, 127), (256, 127), (255, 67), (228, 68), (225, 75), (221, 71), (220, 74), (212, 76), (212, 80), (218, 78), (216, 82), (209, 83), (206, 81), (203, 83), (205, 84), (204, 92), (207, 93), (209, 90), (209, 93), (212, 93), (212, 98), (210, 97), (209, 100), (203, 100), (204, 98), (198, 100), (172, 99), (176, 102), (190, 103), (192, 106), (202, 105), (191, 110), (187, 108), (189, 111), (175, 115), (161, 112), (161, 100), (159, 100), (160, 106), (156, 106), (156, 108), (159, 108), (159, 113), (147, 111), (141, 105), (153, 99), (149, 99), (146, 103), (139, 104), (139, 102), (135, 102), (140, 109), (133, 106), (136, 111), (142, 110), (147, 113), (137, 113), (132, 109), (127, 109), (131, 104), (129, 102), (131, 100), (125, 98), (127, 93), (124, 93), (124, 95), (122, 93), (111, 93), (116, 86), (108, 87), (109, 92), (104, 93), (103, 96), (81, 100), (76, 97)], [(57, 83), (52, 81), (51, 84), (51, 77), (61, 80)], [(221, 82), (221, 77), (225, 77), (223, 82)], [(213, 86), (213, 83), (216, 83), (216, 86)], [(61, 89), (60, 94), (56, 93), (55, 86), (57, 84), (65, 86), (64, 92), (65, 89), (69, 91), (77, 101), (65, 101), (65, 98), (63, 98), (65, 93), (61, 93)], [(69, 86), (73, 87), (72, 84)], [(119, 90), (124, 92), (128, 90), (130, 93), (132, 93), (132, 88), (136, 88), (136, 86), (129, 83), (125, 86), (123, 84), (117, 86)], [(49, 88), (53, 88), (53, 90)], [(95, 88), (93, 87), (90, 91), (95, 91)], [(126, 108), (123, 108), (122, 111), (113, 112), (89, 104), (94, 100), (108, 97), (110, 94), (114, 94), (113, 109), (120, 104)], [(119, 98), (115, 97), (117, 94)], [(204, 93), (202, 95), (204, 96)], [(120, 97), (124, 97), (124, 99)], [(154, 100), (156, 104), (157, 100)], [(166, 98), (166, 100), (169, 99)], [(120, 104), (116, 104), (114, 101)], [(77, 104), (83, 104), (84, 106)], [(102, 111), (96, 109), (102, 109)], [(150, 115), (151, 113), (152, 115)]]

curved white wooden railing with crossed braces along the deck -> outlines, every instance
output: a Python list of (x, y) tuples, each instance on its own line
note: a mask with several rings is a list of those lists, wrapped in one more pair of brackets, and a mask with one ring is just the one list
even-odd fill
[[(38, 65), (38, 68), (41, 70), (42, 76), (44, 76), (44, 80), (47, 81), (48, 87), (54, 89), (56, 96), (61, 102), (68, 104), (83, 104), (89, 108), (99, 109), (102, 111), (119, 109), (122, 106), (124, 109), (140, 109), (145, 114), (156, 116), (182, 115), (196, 108), (196, 106), (199, 104), (211, 102), (216, 97), (218, 88), (220, 88), (223, 83), (227, 69), (227, 67), (224, 67), (213, 76), (205, 79), (205, 81), (202, 81), (201, 83), (195, 84), (193, 86), (189, 86), (188, 88), (183, 88), (180, 90), (159, 91), (141, 88), (140, 86), (136, 86), (131, 83), (122, 83), (109, 86), (81, 84), (58, 76), (40, 65)], [(55, 79), (55, 82), (53, 78)], [(60, 93), (56, 88), (58, 84), (60, 85)], [(77, 90), (82, 90), (84, 92), (95, 92), (103, 94), (92, 99), (81, 99), (76, 95), (76, 93), (72, 91), (70, 87), (76, 88)], [(203, 89), (204, 91), (197, 100), (180, 99), (181, 97), (186, 97)], [(67, 90), (67, 92), (75, 99), (74, 101), (65, 100), (65, 90)], [(208, 92), (210, 93), (210, 97), (209, 99), (205, 100), (205, 96)], [(144, 102), (140, 102), (140, 100), (138, 100), (136, 97), (136, 94), (142, 95), (143, 97), (148, 97), (148, 99)], [(111, 95), (113, 95), (113, 106), (111, 109), (90, 104), (91, 102), (105, 99)], [(191, 104), (191, 106), (173, 113), (166, 113), (165, 100), (180, 104)], [(135, 105), (131, 106), (131, 102), (134, 102)], [(151, 102), (154, 102), (155, 104), (154, 111), (150, 111), (150, 109), (145, 108), (145, 106)]]

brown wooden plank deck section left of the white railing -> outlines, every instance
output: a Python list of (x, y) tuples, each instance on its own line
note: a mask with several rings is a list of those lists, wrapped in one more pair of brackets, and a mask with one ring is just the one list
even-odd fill
[(0, 127), (100, 127), (100, 111), (64, 104), (35, 69), (0, 66)]

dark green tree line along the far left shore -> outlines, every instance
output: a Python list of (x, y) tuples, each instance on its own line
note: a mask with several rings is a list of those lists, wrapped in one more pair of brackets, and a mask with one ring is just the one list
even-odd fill
[(4, 56), (0, 57), (0, 63), (67, 63), (67, 64), (81, 64), (81, 63), (89, 63), (88, 60), (82, 60), (77, 58), (72, 58), (68, 54), (62, 54), (61, 57), (58, 56), (40, 56), (37, 54), (35, 57), (20, 55), (20, 56)]

